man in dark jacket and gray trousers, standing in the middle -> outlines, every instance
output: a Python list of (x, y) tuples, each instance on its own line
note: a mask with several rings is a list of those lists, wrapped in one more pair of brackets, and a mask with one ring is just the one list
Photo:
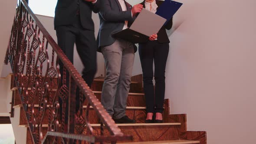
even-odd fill
[(101, 4), (98, 51), (102, 52), (107, 69), (102, 105), (116, 123), (135, 123), (125, 115), (125, 109), (137, 47), (134, 43), (112, 37), (112, 33), (127, 29), (143, 6), (132, 7), (125, 0), (104, 0)]

